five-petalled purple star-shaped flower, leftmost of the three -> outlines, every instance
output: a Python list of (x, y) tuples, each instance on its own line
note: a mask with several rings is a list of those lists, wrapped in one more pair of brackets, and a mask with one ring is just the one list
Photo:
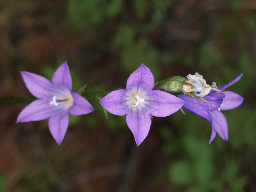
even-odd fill
[(70, 115), (91, 113), (92, 105), (72, 91), (72, 80), (67, 62), (53, 74), (52, 82), (45, 77), (22, 71), (29, 92), (38, 98), (27, 105), (18, 115), (17, 122), (39, 121), (49, 118), (49, 130), (58, 144), (66, 134)]

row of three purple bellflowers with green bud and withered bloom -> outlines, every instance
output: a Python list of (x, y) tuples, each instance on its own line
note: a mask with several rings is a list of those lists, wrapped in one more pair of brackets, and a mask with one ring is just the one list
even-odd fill
[[(67, 132), (69, 114), (83, 115), (94, 110), (86, 99), (72, 91), (67, 62), (54, 72), (52, 82), (33, 73), (20, 73), (28, 90), (38, 100), (20, 112), (17, 123), (49, 118), (49, 130), (58, 144)], [(187, 75), (187, 79), (180, 76), (170, 77), (159, 81), (154, 87), (152, 72), (141, 64), (127, 79), (126, 90), (112, 91), (99, 103), (114, 115), (126, 115), (127, 125), (134, 135), (137, 146), (150, 131), (151, 116), (166, 117), (177, 112), (182, 106), (211, 123), (209, 143), (216, 137), (216, 132), (222, 139), (228, 140), (227, 121), (221, 111), (236, 108), (243, 102), (243, 98), (234, 92), (224, 90), (241, 77), (242, 74), (228, 84), (216, 87), (216, 83), (209, 86), (203, 76), (196, 73)]]

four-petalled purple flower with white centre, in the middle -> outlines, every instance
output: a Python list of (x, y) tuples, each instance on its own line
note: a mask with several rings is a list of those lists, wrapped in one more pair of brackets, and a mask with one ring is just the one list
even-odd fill
[(146, 138), (151, 126), (150, 115), (166, 117), (177, 112), (184, 102), (169, 93), (152, 90), (154, 76), (141, 64), (127, 79), (126, 90), (116, 90), (106, 95), (100, 104), (114, 115), (126, 115), (137, 146)]

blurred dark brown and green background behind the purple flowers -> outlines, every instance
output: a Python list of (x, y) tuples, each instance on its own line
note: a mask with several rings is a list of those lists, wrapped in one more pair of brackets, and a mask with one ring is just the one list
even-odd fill
[[(1, 0), (1, 191), (256, 191), (254, 0)], [(33, 98), (20, 75), (51, 78), (68, 61), (73, 90), (95, 111), (70, 116), (60, 146), (47, 122), (16, 124)], [(124, 89), (143, 63), (155, 81), (202, 74), (244, 97), (224, 111), (229, 141), (209, 145), (210, 124), (180, 111), (152, 119), (139, 147), (103, 93)], [(13, 104), (7, 104), (12, 98)]]

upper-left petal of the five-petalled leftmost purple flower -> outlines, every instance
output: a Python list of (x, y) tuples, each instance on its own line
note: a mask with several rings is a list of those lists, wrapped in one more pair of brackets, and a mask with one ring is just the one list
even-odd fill
[(50, 92), (56, 89), (45, 77), (27, 71), (21, 71), (20, 74), (22, 74), (29, 92), (39, 99), (47, 97)]

